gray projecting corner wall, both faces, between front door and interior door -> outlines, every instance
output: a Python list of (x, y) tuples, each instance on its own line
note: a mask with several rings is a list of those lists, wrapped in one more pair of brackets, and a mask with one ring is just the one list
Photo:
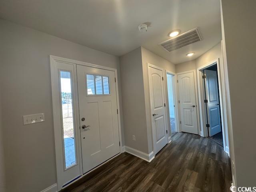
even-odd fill
[(120, 57), (125, 145), (147, 154), (153, 150), (148, 63), (175, 72), (174, 64), (143, 47)]

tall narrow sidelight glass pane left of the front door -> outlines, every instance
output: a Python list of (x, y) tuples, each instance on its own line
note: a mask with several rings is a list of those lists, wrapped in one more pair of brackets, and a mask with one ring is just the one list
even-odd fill
[(76, 164), (70, 72), (60, 71), (65, 167)]

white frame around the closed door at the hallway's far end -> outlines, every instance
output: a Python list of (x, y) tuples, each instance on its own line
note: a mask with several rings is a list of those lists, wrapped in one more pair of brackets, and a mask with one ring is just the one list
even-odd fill
[[(190, 72), (193, 72), (194, 73), (194, 85), (195, 85), (195, 95), (196, 95), (196, 118), (197, 118), (197, 128), (198, 128), (198, 134), (202, 136), (202, 132), (201, 132), (201, 129), (200, 129), (200, 118), (199, 118), (199, 105), (198, 105), (198, 88), (197, 88), (197, 81), (196, 81), (196, 70), (189, 70), (189, 71), (184, 71), (184, 72), (179, 72), (179, 73), (176, 73), (177, 76), (180, 75), (180, 74), (185, 74), (185, 73), (190, 73)], [(177, 82), (178, 83), (178, 82)], [(177, 91), (179, 90), (178, 86), (177, 86)], [(180, 100), (179, 98), (179, 95), (178, 95), (178, 100)], [(178, 105), (179, 106), (179, 121), (181, 121), (181, 118), (180, 118), (180, 104)], [(179, 123), (180, 125), (180, 123)], [(180, 126), (179, 126), (180, 127)], [(181, 130), (181, 127), (180, 127), (180, 130)]]

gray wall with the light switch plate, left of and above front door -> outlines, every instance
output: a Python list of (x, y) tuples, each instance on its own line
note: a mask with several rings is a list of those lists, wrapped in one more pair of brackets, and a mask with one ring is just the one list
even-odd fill
[[(120, 80), (119, 58), (5, 20), (0, 28), (6, 186), (38, 192), (56, 183), (49, 55), (117, 68)], [(23, 126), (35, 113), (45, 122)]]

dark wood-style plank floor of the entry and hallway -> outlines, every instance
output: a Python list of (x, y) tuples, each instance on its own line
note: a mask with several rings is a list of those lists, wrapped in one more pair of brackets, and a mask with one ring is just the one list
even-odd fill
[(208, 138), (177, 133), (148, 163), (122, 153), (62, 192), (228, 192), (230, 159)]

